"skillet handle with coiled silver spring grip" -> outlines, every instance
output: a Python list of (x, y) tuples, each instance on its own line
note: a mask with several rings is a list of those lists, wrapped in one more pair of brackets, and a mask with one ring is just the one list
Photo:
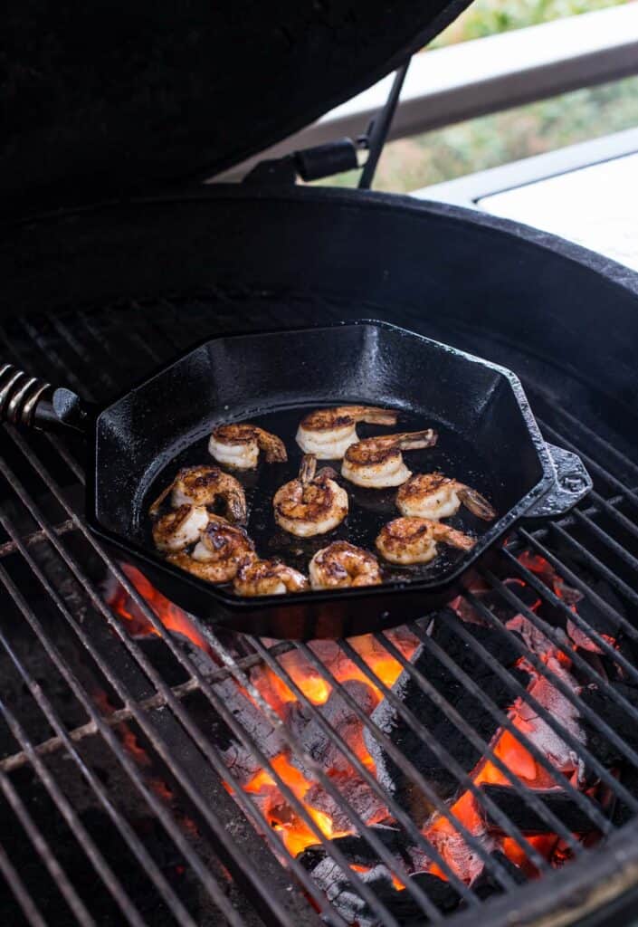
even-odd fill
[(93, 408), (70, 389), (52, 387), (11, 363), (0, 365), (0, 422), (87, 434), (95, 417)]

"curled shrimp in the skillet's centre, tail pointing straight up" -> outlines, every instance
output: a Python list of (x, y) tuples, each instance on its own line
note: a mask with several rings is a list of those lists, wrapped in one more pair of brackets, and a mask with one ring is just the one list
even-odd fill
[(335, 482), (337, 474), (329, 467), (315, 473), (316, 466), (316, 457), (305, 454), (299, 478), (274, 493), (274, 520), (300, 538), (325, 534), (348, 514), (348, 493)]

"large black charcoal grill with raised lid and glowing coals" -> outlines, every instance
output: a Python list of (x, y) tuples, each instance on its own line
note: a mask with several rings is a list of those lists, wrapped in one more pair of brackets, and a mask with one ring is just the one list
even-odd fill
[[(291, 131), (462, 5), (409, 6), (367, 4), (365, 48), (347, 4), (313, 6), (319, 37), (303, 5), (278, 11), (292, 31), (258, 23), (249, 47), (263, 95), (244, 81), (233, 112), (231, 95), (211, 101), (209, 88), (238, 80), (225, 50), (241, 17), (216, 32), (193, 31), (192, 19), (163, 29), (156, 5), (146, 57), (128, 60), (132, 7), (89, 23), (64, 7), (40, 45), (19, 6), (11, 37), (30, 67), (9, 53), (20, 67), (0, 176), (19, 218), (2, 233), (2, 357), (106, 403), (205, 338), (385, 319), (516, 371), (543, 437), (581, 456), (593, 492), (558, 522), (519, 528), (442, 616), (364, 639), (272, 641), (213, 632), (102, 547), (84, 521), (81, 438), (6, 425), (7, 923), (540, 927), (632, 916), (635, 274), (466, 210), (281, 185), (289, 171), (276, 166), (266, 184), (157, 192)], [(65, 58), (78, 37), (82, 75)], [(112, 82), (96, 81), (114, 48)], [(282, 48), (285, 67), (271, 73)], [(162, 84), (155, 65), (174, 63), (175, 49), (182, 70), (167, 68)], [(291, 75), (312, 94), (289, 93)], [(161, 118), (147, 108), (156, 91)], [(24, 93), (41, 109), (35, 128), (23, 125)], [(286, 101), (281, 119), (266, 99)], [(167, 139), (185, 108), (193, 139)], [(128, 196), (140, 189), (146, 197)], [(127, 197), (88, 205), (113, 192)], [(27, 204), (64, 209), (36, 216)]]

